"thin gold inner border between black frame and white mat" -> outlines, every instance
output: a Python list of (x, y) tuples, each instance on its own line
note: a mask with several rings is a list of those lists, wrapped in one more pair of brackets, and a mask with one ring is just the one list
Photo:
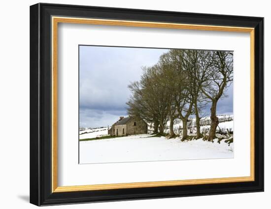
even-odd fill
[[(185, 29), (185, 30), (214, 30), (214, 31), (231, 31), (231, 32), (248, 32), (250, 33), (250, 176), (249, 177), (232, 177), (232, 178), (215, 178), (215, 179), (188, 179), (188, 180), (169, 180), (169, 181), (149, 181), (133, 183), (113, 183), (113, 184), (95, 184), (80, 186), (58, 186), (58, 159), (57, 159), (57, 49), (58, 49), (58, 23), (73, 24), (94, 24), (94, 25), (111, 25), (111, 26), (130, 26), (130, 27), (149, 27), (149, 28), (168, 28), (168, 29)], [(105, 189), (124, 189), (140, 187), (157, 187), (157, 186), (174, 186), (174, 185), (192, 185), (205, 183), (228, 183), (254, 181), (254, 28), (227, 27), (227, 26), (209, 26), (193, 24), (176, 24), (161, 22), (140, 22), (126, 20), (105, 20), (105, 19), (88, 19), (52, 16), (52, 192), (74, 192), (89, 190)]]

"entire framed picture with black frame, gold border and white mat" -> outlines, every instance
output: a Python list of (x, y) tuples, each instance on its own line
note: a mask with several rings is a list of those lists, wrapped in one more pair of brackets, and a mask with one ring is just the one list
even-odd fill
[(30, 202), (264, 191), (264, 18), (30, 7)]

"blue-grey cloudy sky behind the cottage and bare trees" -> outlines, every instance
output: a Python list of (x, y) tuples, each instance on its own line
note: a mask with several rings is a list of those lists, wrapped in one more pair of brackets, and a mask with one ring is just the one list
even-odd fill
[[(141, 66), (155, 64), (167, 49), (79, 47), (79, 125), (102, 127), (127, 116), (127, 86), (138, 81)], [(233, 113), (233, 88), (218, 103), (218, 114)], [(209, 109), (209, 108), (208, 108)]]

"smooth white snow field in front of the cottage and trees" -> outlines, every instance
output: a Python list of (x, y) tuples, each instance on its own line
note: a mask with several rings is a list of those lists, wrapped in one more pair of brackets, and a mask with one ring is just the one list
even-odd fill
[(234, 157), (233, 143), (149, 137), (150, 134), (80, 142), (80, 163), (138, 162)]

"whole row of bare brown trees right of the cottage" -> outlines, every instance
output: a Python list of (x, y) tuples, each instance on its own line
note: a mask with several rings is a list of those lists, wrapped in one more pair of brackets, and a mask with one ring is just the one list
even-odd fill
[(188, 137), (187, 122), (196, 117), (197, 138), (203, 137), (200, 119), (210, 103), (211, 126), (208, 140), (215, 138), (219, 123), (217, 102), (233, 81), (233, 52), (171, 49), (153, 66), (142, 67), (140, 81), (131, 83), (128, 114), (154, 124), (154, 132), (163, 134), (170, 121), (170, 138), (175, 136), (173, 124), (181, 119), (182, 139)]

